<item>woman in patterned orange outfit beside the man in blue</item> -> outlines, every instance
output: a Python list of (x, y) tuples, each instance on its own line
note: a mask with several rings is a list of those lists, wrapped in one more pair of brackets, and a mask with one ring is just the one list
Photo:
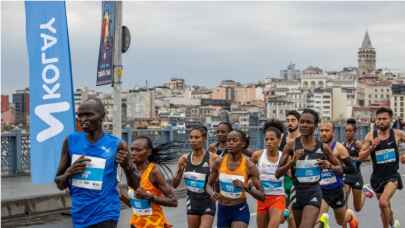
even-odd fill
[(128, 198), (132, 208), (132, 228), (166, 228), (169, 225), (161, 206), (177, 207), (173, 189), (164, 179), (159, 168), (159, 150), (153, 148), (150, 138), (138, 136), (130, 152), (140, 175), (140, 186), (129, 188)]

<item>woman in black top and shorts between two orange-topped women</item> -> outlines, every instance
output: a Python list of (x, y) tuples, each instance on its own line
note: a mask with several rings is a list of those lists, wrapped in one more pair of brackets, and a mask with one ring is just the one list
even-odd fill
[(190, 132), (189, 142), (192, 152), (183, 155), (178, 162), (173, 187), (180, 185), (184, 177), (187, 188), (187, 223), (188, 227), (211, 227), (215, 216), (215, 202), (205, 190), (211, 164), (217, 155), (204, 150), (207, 140), (207, 129), (195, 127)]

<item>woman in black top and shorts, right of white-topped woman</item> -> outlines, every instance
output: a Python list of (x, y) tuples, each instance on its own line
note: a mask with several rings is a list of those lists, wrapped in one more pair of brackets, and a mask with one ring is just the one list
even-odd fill
[[(301, 136), (288, 142), (284, 148), (276, 177), (284, 176), (292, 169), (296, 201), (293, 204), (294, 219), (300, 228), (314, 227), (319, 216), (322, 192), (319, 185), (322, 160), (339, 165), (331, 149), (316, 140), (314, 132), (319, 123), (319, 115), (305, 109), (299, 122)], [(292, 156), (292, 159), (289, 157)]]

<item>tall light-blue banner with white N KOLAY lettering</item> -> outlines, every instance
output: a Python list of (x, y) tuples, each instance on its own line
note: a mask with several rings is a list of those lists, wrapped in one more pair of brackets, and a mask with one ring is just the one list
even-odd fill
[(65, 2), (25, 2), (29, 56), (31, 176), (53, 182), (64, 138), (74, 131)]

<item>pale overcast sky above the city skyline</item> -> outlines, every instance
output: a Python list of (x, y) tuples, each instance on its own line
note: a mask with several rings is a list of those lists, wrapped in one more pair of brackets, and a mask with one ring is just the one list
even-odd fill
[[(2, 93), (28, 86), (23, 2), (1, 3)], [(299, 69), (357, 66), (366, 30), (377, 67), (405, 71), (405, 2), (124, 2), (124, 88), (171, 77), (213, 87)], [(75, 88), (96, 88), (101, 3), (68, 2)], [(108, 86), (103, 90), (110, 91)]]

